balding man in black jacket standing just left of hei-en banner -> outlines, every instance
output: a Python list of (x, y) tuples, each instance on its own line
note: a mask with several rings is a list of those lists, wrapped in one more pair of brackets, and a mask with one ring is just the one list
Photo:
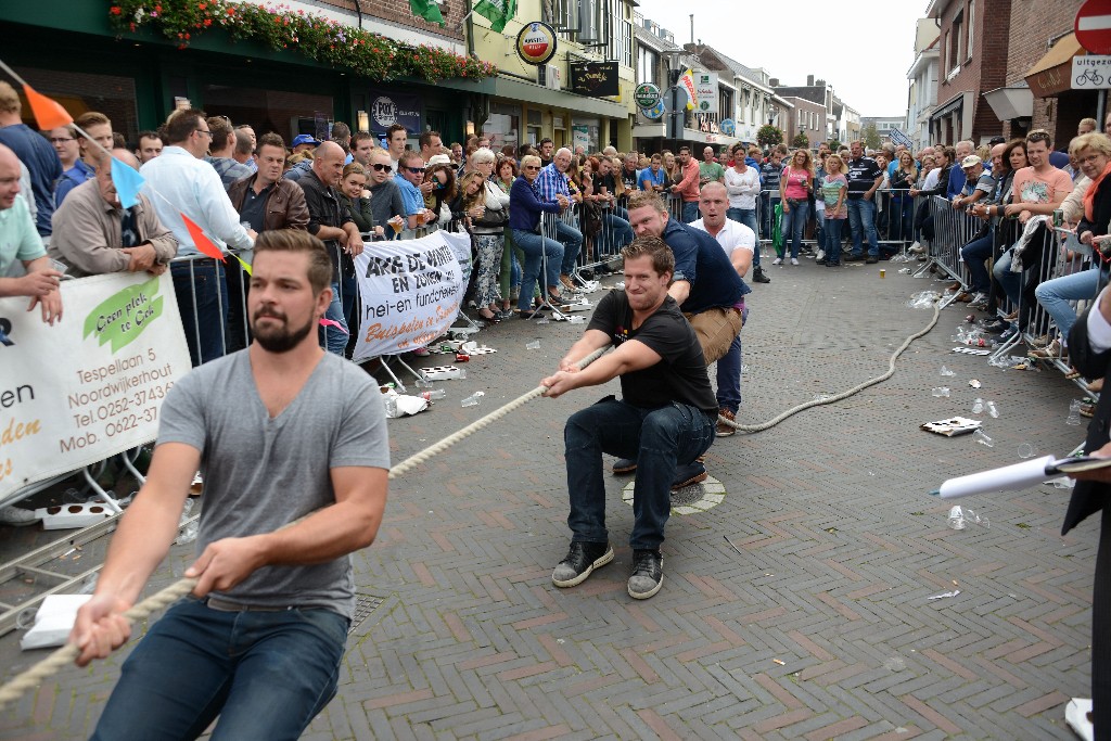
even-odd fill
[(332, 259), (332, 302), (324, 318), (334, 322), (324, 328), (329, 352), (343, 356), (348, 344), (348, 326), (344, 314), (353, 306), (358, 286), (354, 280), (352, 258), (362, 252), (362, 238), (350, 211), (340, 206), (336, 186), (343, 172), (347, 152), (334, 141), (317, 148), (312, 169), (298, 181), (309, 207), (309, 233), (328, 248)]

